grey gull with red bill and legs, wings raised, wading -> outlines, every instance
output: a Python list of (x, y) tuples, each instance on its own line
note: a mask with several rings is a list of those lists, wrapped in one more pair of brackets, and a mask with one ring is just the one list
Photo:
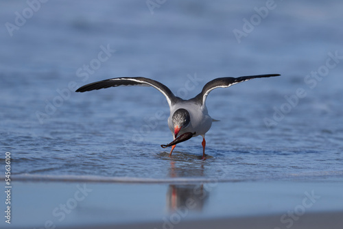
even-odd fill
[[(195, 132), (194, 136), (202, 136), (202, 158), (206, 158), (205, 154), (205, 134), (211, 128), (212, 122), (217, 121), (209, 116), (206, 108), (206, 97), (215, 88), (227, 88), (240, 82), (263, 77), (274, 77), (279, 74), (266, 75), (248, 75), (241, 77), (220, 77), (211, 80), (202, 88), (202, 91), (191, 99), (181, 99), (176, 97), (167, 86), (145, 77), (117, 77), (108, 80), (102, 80), (86, 84), (76, 90), (76, 92), (85, 92), (99, 90), (102, 88), (109, 88), (112, 86), (152, 86), (160, 91), (167, 99), (170, 109), (170, 116), (168, 118), (168, 126), (173, 134), (173, 138), (185, 134), (187, 132)], [(171, 153), (176, 145), (171, 147)]]

